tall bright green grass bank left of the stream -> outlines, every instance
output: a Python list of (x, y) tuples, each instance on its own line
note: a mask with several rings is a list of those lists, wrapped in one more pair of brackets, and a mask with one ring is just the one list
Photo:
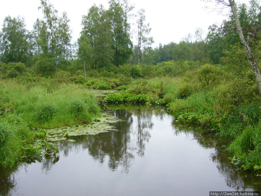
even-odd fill
[[(0, 164), (41, 154), (44, 129), (85, 124), (100, 115), (95, 96), (75, 84), (2, 80), (0, 96)], [(38, 142), (37, 142), (38, 141)]]

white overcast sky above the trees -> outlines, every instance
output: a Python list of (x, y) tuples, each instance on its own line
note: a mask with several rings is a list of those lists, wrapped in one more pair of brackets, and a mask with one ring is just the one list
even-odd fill
[[(65, 11), (70, 19), (70, 28), (72, 29), (72, 41), (76, 41), (81, 31), (81, 17), (87, 15), (88, 9), (102, 4), (108, 8), (108, 0), (49, 0), (54, 8), (58, 10), (59, 16)], [(237, 0), (237, 2), (248, 3), (248, 0)], [(226, 13), (229, 8), (218, 14), (213, 9), (213, 4), (204, 3), (200, 0), (131, 0), (135, 5), (135, 11), (140, 8), (145, 9), (146, 23), (150, 24), (151, 36), (155, 43), (153, 48), (159, 46), (159, 43), (168, 44), (170, 42), (179, 43), (180, 40), (189, 33), (194, 35), (195, 29), (200, 27), (207, 33), (211, 24), (220, 25), (223, 19), (226, 19)], [(0, 25), (2, 29), (3, 20), (6, 16), (24, 17), (26, 28), (32, 30), (36, 19), (42, 18), (41, 10), (38, 10), (40, 0), (3, 0), (0, 6)], [(133, 21), (135, 22), (135, 21)], [(133, 44), (136, 44), (133, 36)]]

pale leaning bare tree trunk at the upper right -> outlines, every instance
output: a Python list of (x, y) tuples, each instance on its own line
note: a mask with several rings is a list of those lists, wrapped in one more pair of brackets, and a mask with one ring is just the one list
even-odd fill
[(251, 48), (250, 48), (249, 44), (247, 43), (247, 41), (244, 37), (243, 30), (242, 30), (242, 27), (240, 25), (240, 21), (239, 21), (239, 18), (238, 18), (238, 13), (237, 13), (237, 10), (235, 8), (235, 1), (229, 0), (229, 4), (230, 4), (231, 10), (233, 12), (234, 18), (235, 18), (235, 25), (236, 25), (237, 32), (239, 34), (240, 41), (244, 46), (245, 53), (247, 54), (248, 61), (251, 64), (252, 70), (255, 74), (255, 79), (256, 79), (256, 82), (258, 84), (258, 89), (259, 89), (259, 93), (260, 93), (260, 96), (261, 96), (261, 75), (260, 75), (260, 70), (259, 70), (258, 64), (255, 62), (255, 59), (254, 59), (252, 52), (251, 52)]

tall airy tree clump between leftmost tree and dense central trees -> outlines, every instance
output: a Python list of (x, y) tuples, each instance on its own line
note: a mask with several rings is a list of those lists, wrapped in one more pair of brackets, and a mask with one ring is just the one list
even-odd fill
[(69, 59), (71, 56), (70, 19), (66, 12), (59, 17), (58, 11), (47, 0), (41, 0), (41, 6), (38, 9), (42, 10), (44, 18), (38, 19), (34, 25), (34, 38), (37, 46), (35, 53), (50, 58), (52, 60), (50, 65), (56, 69), (57, 62)]

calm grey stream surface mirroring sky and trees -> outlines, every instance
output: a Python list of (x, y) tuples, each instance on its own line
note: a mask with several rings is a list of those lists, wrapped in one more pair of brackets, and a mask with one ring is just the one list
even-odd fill
[(119, 131), (59, 141), (59, 154), (0, 170), (0, 195), (209, 195), (260, 191), (238, 172), (218, 138), (177, 124), (164, 109), (110, 110)]

